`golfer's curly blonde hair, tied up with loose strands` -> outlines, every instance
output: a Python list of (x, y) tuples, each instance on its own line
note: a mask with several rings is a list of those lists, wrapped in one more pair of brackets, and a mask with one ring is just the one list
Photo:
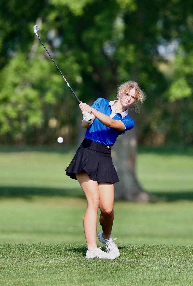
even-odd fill
[(143, 90), (139, 87), (139, 84), (137, 82), (129, 81), (129, 82), (124, 82), (118, 87), (117, 90), (117, 95), (116, 95), (116, 100), (119, 100), (120, 98), (120, 91), (123, 92), (130, 92), (130, 90), (134, 88), (135, 89), (135, 95), (137, 96), (137, 99), (135, 100), (135, 109), (136, 112), (140, 112), (140, 106), (143, 103), (143, 101), (146, 99), (146, 96), (143, 92)]

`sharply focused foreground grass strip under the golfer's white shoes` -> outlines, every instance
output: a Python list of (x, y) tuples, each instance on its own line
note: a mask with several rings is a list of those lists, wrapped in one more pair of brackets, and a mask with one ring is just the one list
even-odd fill
[(86, 259), (84, 245), (0, 245), (4, 285), (186, 285), (193, 283), (190, 246), (123, 246), (113, 260)]

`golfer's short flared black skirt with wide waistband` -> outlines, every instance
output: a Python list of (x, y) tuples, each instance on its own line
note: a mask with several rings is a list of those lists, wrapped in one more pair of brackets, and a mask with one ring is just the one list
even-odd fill
[(118, 183), (119, 177), (113, 165), (111, 147), (84, 139), (76, 151), (66, 175), (76, 179), (75, 174), (86, 171), (89, 178), (98, 183)]

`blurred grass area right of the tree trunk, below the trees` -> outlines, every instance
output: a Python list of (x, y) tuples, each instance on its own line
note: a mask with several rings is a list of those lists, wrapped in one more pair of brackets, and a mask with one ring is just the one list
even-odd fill
[[(143, 150), (143, 149), (142, 149)], [(193, 153), (162, 152), (158, 149), (140, 151), (137, 157), (137, 174), (145, 189), (169, 200), (193, 199)], [(173, 195), (172, 195), (173, 193)], [(175, 194), (174, 194), (175, 193)]]

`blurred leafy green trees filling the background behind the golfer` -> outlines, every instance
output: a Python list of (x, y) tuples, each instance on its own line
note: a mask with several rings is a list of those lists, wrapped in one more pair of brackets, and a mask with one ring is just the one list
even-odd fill
[[(192, 144), (193, 13), (185, 1), (1, 1), (0, 143), (75, 142), (80, 100), (112, 99), (136, 80), (148, 100), (140, 144)], [(72, 128), (73, 127), (73, 128)]]

